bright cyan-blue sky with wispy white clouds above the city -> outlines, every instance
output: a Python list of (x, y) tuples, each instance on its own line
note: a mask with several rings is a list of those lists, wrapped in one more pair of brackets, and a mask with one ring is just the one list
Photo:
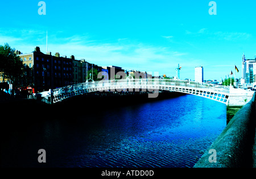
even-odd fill
[(241, 57), (256, 55), (256, 1), (209, 0), (85, 0), (1, 2), (0, 44), (22, 53), (39, 46), (61, 56), (74, 55), (99, 66), (159, 72), (195, 79), (195, 66), (204, 66), (204, 79), (220, 80), (240, 70)]

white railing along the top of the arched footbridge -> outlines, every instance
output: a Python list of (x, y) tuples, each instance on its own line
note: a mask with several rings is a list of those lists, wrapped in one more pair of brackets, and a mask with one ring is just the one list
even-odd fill
[(53, 95), (67, 93), (69, 91), (76, 91), (82, 89), (90, 89), (97, 87), (116, 87), (120, 88), (147, 88), (148, 86), (167, 86), (167, 87), (184, 87), (193, 89), (210, 89), (212, 91), (221, 91), (222, 93), (229, 93), (228, 86), (213, 85), (195, 81), (183, 81), (183, 80), (168, 80), (168, 79), (129, 79), (126, 80), (101, 80), (94, 82), (84, 82), (76, 85), (64, 86), (62, 88), (53, 89)]

